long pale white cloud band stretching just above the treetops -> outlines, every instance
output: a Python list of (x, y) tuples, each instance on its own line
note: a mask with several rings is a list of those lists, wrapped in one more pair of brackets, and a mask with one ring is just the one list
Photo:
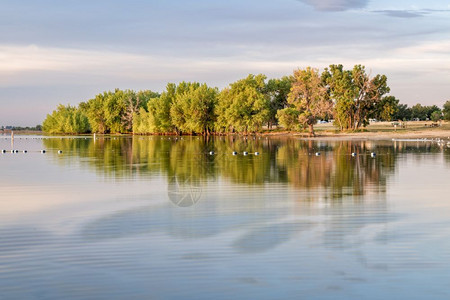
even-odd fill
[[(323, 68), (332, 63), (342, 63), (348, 68), (354, 64), (364, 64), (381, 73), (383, 70), (407, 73), (411, 69), (433, 72), (436, 69), (450, 68), (445, 66), (445, 62), (450, 61), (447, 51), (449, 48), (450, 41), (423, 42), (398, 49), (386, 49), (384, 53), (374, 56), (370, 49), (367, 52), (361, 51), (361, 48), (353, 51), (351, 47), (344, 45), (310, 47), (303, 50), (305, 53), (298, 47), (281, 45), (270, 49), (241, 49), (240, 55), (221, 58), (0, 45), (0, 86), (152, 80), (211, 80), (209, 84), (223, 85), (248, 73), (281, 75), (290, 73), (297, 67)], [(267, 52), (280, 55), (271, 56)], [(327, 55), (331, 52), (334, 53), (332, 57)]]

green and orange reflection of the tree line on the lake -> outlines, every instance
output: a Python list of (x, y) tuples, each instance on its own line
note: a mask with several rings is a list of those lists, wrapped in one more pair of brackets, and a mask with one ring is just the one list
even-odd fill
[[(368, 188), (382, 193), (386, 179), (394, 171), (397, 154), (409, 149), (398, 144), (393, 147), (390, 141), (323, 142), (235, 136), (105, 136), (97, 140), (46, 139), (44, 143), (48, 149), (64, 150), (66, 155), (58, 158), (59, 163), (81, 161), (99, 175), (114, 180), (165, 176), (169, 199), (181, 206), (196, 203), (202, 187), (218, 179), (252, 186), (284, 183), (298, 190), (321, 188), (331, 200), (365, 195)], [(215, 154), (209, 155), (210, 151)], [(233, 156), (233, 151), (239, 155)], [(241, 155), (243, 151), (250, 155)], [(261, 155), (252, 155), (256, 151)], [(369, 155), (372, 151), (377, 153), (376, 158)], [(315, 156), (315, 152), (322, 155)]]

